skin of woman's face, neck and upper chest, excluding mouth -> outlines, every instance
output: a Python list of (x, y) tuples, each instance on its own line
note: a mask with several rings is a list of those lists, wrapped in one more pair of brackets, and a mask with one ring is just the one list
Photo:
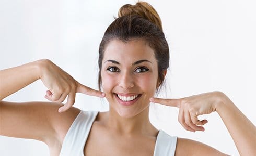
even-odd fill
[[(144, 61), (135, 63), (141, 60)], [(153, 155), (158, 134), (148, 116), (149, 98), (154, 96), (158, 81), (153, 49), (143, 40), (114, 40), (106, 47), (102, 62), (102, 88), (110, 110), (100, 113), (92, 125), (91, 132), (97, 133), (89, 135), (85, 154)], [(116, 93), (141, 95), (134, 105), (123, 106)]]

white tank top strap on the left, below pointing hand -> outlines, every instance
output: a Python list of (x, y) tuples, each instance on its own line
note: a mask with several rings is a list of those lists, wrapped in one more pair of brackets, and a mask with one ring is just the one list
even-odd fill
[(85, 142), (98, 111), (81, 110), (63, 140), (60, 156), (84, 155)]

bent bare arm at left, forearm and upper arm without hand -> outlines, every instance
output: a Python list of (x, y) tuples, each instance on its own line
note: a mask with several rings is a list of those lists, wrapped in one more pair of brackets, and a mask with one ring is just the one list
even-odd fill
[(48, 62), (39, 60), (0, 71), (0, 135), (37, 139), (49, 144), (67, 131), (64, 125), (72, 123), (79, 109), (72, 108), (67, 113), (59, 114), (56, 112), (62, 105), (58, 103), (1, 101), (40, 79), (41, 69)]

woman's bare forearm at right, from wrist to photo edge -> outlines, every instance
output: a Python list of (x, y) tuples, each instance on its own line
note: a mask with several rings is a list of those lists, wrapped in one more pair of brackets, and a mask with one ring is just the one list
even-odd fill
[(220, 96), (216, 108), (234, 140), (240, 155), (256, 155), (256, 127), (226, 96)]

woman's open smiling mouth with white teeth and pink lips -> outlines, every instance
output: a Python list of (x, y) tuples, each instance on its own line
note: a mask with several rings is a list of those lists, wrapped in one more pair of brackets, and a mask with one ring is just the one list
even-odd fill
[(121, 105), (129, 106), (135, 103), (142, 94), (122, 94), (115, 93), (115, 97)]

